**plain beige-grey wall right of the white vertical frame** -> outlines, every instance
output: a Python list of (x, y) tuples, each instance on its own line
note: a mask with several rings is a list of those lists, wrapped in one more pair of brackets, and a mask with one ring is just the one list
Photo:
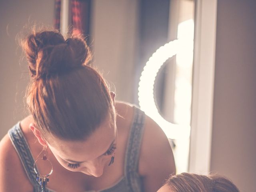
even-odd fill
[(219, 0), (211, 171), (256, 190), (256, 2)]

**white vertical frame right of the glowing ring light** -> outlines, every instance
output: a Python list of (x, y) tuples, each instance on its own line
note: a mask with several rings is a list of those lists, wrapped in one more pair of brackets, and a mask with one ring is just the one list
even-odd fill
[(191, 134), (188, 172), (208, 174), (212, 142), (212, 111), (217, 0), (195, 1), (195, 36)]

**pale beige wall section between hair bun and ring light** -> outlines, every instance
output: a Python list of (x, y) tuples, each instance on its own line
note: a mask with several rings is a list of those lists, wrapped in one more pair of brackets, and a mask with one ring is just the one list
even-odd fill
[(133, 100), (137, 9), (138, 0), (92, 1), (94, 65), (116, 91), (116, 98), (127, 102)]

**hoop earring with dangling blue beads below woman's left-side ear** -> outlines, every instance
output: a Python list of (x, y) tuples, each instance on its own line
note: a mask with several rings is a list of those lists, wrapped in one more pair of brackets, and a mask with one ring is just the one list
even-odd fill
[[(40, 175), (37, 171), (36, 171), (36, 168), (35, 168), (35, 165), (36, 165), (36, 162), (38, 160), (44, 160), (44, 161), (48, 161), (50, 162), (50, 160), (48, 160), (47, 158), (47, 145), (44, 146), (44, 149), (42, 150), (42, 152), (40, 152), (40, 154), (44, 153), (43, 157), (42, 158), (38, 158), (38, 156), (40, 156), (40, 154), (37, 156), (37, 160), (34, 162), (34, 172), (37, 174), (37, 177), (36, 177), (36, 181), (40, 184), (41, 186), (41, 189), (42, 189), (42, 192), (44, 192), (44, 188), (46, 186), (46, 184), (49, 182), (49, 176), (52, 174), (53, 170), (51, 169), (50, 173), (48, 173), (47, 175)], [(50, 162), (51, 166), (52, 166), (52, 163)]]

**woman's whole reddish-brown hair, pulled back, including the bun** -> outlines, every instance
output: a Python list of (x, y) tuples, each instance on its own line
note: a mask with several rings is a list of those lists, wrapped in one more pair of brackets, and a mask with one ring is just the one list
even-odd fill
[(114, 106), (102, 76), (89, 66), (82, 36), (33, 32), (23, 41), (31, 82), (27, 104), (42, 136), (83, 140), (111, 115)]

